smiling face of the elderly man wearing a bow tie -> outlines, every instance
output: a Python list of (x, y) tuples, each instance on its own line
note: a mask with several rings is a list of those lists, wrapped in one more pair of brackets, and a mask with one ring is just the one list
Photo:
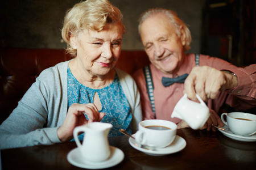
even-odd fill
[(183, 63), (185, 33), (180, 28), (180, 37), (165, 14), (150, 16), (141, 25), (141, 40), (152, 64), (162, 73), (174, 74)]

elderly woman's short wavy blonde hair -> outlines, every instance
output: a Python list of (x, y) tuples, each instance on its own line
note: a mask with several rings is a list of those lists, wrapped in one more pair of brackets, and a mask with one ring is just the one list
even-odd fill
[(108, 0), (87, 0), (77, 3), (67, 11), (61, 31), (62, 38), (67, 42), (67, 52), (76, 57), (76, 49), (71, 46), (71, 34), (77, 35), (84, 29), (101, 31), (105, 24), (119, 24), (122, 33), (125, 26), (122, 23), (121, 11)]

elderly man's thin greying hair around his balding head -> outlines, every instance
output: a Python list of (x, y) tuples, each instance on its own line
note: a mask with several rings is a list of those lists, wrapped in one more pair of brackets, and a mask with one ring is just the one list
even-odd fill
[(141, 24), (144, 22), (144, 20), (146, 20), (148, 17), (152, 15), (159, 14), (159, 13), (163, 13), (168, 16), (168, 18), (170, 19), (170, 22), (174, 25), (176, 29), (176, 33), (179, 37), (180, 37), (180, 28), (183, 27), (185, 36), (186, 36), (186, 39), (185, 39), (186, 44), (184, 45), (184, 50), (189, 50), (191, 48), (190, 46), (191, 32), (189, 31), (187, 25), (183, 22), (183, 20), (177, 17), (177, 14), (174, 11), (166, 10), (163, 8), (151, 8), (143, 12), (139, 17), (139, 26), (138, 26), (139, 33), (141, 33)]

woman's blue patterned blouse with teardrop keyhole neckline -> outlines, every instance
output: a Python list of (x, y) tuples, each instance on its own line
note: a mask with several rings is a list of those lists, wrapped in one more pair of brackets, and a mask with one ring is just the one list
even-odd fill
[[(125, 129), (128, 133), (131, 131), (132, 114), (127, 98), (122, 90), (122, 86), (118, 75), (115, 74), (114, 81), (109, 86), (101, 89), (92, 89), (79, 83), (75, 76), (71, 73), (68, 67), (68, 108), (74, 103), (87, 104), (93, 103), (93, 97), (97, 92), (100, 98), (102, 109), (99, 112), (104, 112), (105, 116), (101, 122), (108, 122), (113, 125), (109, 132), (110, 137), (122, 135), (119, 129)], [(86, 115), (85, 115), (86, 117)], [(87, 117), (86, 117), (87, 118)], [(79, 135), (82, 140), (84, 134)], [(73, 141), (74, 139), (72, 139)]]

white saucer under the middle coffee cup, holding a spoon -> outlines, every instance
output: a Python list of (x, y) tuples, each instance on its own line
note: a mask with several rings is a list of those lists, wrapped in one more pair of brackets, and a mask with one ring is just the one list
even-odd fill
[(164, 148), (156, 148), (156, 150), (147, 150), (145, 148), (139, 147), (138, 143), (133, 138), (129, 138), (129, 143), (135, 149), (142, 151), (145, 154), (153, 156), (164, 156), (168, 154), (174, 154), (175, 152), (183, 150), (183, 148), (187, 145), (185, 139), (181, 138), (178, 135), (176, 135), (174, 142), (172, 142), (169, 146)]

